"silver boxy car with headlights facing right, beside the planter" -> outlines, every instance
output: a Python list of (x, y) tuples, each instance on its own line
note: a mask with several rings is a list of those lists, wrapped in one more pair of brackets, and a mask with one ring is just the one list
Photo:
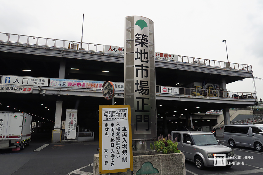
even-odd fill
[(225, 155), (226, 167), (231, 167), (233, 151), (231, 148), (221, 145), (211, 132), (200, 131), (172, 131), (172, 139), (177, 139), (178, 149), (181, 150), (185, 159), (195, 162), (198, 169), (213, 167), (216, 162)]

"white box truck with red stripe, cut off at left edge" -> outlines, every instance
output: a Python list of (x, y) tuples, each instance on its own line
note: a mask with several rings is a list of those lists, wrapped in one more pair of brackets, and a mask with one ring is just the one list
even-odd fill
[(31, 141), (31, 115), (0, 112), (0, 149), (23, 150)]

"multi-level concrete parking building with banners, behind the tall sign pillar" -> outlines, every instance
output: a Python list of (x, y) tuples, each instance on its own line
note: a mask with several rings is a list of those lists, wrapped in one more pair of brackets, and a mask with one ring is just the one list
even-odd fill
[[(113, 103), (103, 98), (104, 81), (114, 83), (114, 103), (123, 104), (123, 47), (0, 33), (0, 62), (0, 111), (25, 111), (50, 130), (65, 120), (66, 109), (78, 109), (78, 129), (98, 136), (98, 106)], [(226, 89), (253, 78), (251, 65), (155, 53), (155, 76), (158, 135), (214, 126), (216, 115), (200, 115), (212, 110), (223, 110), (229, 124), (229, 108), (257, 102), (255, 93)], [(7, 90), (24, 86), (28, 93)]]

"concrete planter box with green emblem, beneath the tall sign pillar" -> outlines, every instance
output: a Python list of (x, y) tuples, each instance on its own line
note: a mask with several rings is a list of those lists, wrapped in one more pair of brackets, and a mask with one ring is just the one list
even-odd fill
[[(99, 154), (94, 154), (93, 163), (93, 174), (99, 175)], [(136, 155), (133, 156), (133, 170), (134, 175), (185, 175), (184, 153)], [(131, 175), (131, 171), (110, 175)]]

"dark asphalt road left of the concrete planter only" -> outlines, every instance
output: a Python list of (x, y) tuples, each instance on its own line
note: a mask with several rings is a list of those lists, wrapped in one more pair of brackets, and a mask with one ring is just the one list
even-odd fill
[[(98, 141), (61, 144), (51, 143), (50, 138), (47, 133), (33, 133), (24, 150), (0, 150), (0, 175), (66, 175), (93, 163), (93, 155), (98, 153)], [(43, 145), (47, 146), (34, 151)], [(93, 166), (82, 170), (93, 172)]]

